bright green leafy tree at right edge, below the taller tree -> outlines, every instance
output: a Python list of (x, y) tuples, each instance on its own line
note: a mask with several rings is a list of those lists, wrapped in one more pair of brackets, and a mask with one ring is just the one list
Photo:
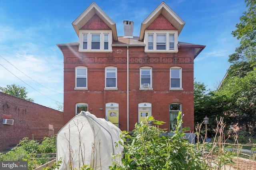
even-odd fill
[(244, 77), (234, 76), (224, 81), (216, 95), (226, 101), (226, 115), (234, 123), (245, 125), (247, 131), (256, 123), (256, 68)]

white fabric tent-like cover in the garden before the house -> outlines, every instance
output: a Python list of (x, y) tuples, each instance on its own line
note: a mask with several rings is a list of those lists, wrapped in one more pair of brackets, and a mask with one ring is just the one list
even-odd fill
[[(105, 119), (97, 118), (88, 111), (81, 111), (57, 134), (57, 161), (62, 160), (60, 170), (80, 169), (90, 165), (94, 170), (108, 170), (113, 154), (121, 154), (121, 130)], [(70, 167), (70, 165), (72, 167)]]

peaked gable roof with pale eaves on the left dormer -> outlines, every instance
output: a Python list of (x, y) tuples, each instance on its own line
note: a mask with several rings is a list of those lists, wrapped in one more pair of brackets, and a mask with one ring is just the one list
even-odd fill
[(79, 36), (79, 29), (82, 28), (95, 14), (97, 14), (97, 16), (112, 29), (114, 41), (118, 41), (116, 23), (114, 23), (114, 21), (111, 20), (95, 2), (92, 2), (92, 4), (90, 4), (90, 6), (72, 22), (76, 34)]

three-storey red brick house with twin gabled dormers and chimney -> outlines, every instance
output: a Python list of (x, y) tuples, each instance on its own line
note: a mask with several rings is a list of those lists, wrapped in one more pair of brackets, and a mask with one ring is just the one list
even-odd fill
[(94, 2), (72, 23), (79, 42), (57, 44), (64, 56), (64, 123), (90, 111), (121, 130), (132, 130), (146, 115), (175, 128), (194, 129), (194, 59), (204, 49), (178, 41), (185, 22), (162, 2), (133, 36), (133, 21), (123, 21), (124, 37)]

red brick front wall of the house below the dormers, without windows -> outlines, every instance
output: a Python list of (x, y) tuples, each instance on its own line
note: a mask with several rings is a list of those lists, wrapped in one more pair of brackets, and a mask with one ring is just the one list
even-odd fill
[[(113, 47), (112, 53), (79, 53), (78, 46), (64, 47), (64, 123), (76, 112), (76, 103), (88, 104), (88, 111), (106, 117), (105, 104), (119, 104), (121, 130), (127, 130), (127, 48)], [(79, 57), (77, 57), (79, 56)], [(182, 104), (183, 127), (194, 129), (194, 48), (180, 47), (178, 53), (144, 53), (144, 47), (129, 47), (129, 130), (138, 122), (138, 104), (152, 104), (152, 115), (166, 122), (169, 129), (169, 104)], [(75, 67), (88, 68), (88, 90), (74, 90)], [(105, 67), (117, 67), (118, 90), (104, 90)], [(152, 67), (154, 90), (139, 90), (140, 67)], [(170, 67), (182, 67), (184, 90), (169, 90)], [(100, 108), (103, 108), (100, 110)]]

